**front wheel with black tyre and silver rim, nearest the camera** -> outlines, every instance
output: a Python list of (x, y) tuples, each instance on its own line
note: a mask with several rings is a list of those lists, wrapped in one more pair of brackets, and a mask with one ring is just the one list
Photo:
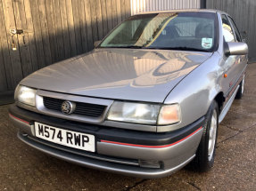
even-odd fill
[(194, 158), (196, 171), (209, 171), (214, 163), (216, 142), (219, 128), (219, 107), (214, 100), (206, 115), (203, 125), (202, 139)]

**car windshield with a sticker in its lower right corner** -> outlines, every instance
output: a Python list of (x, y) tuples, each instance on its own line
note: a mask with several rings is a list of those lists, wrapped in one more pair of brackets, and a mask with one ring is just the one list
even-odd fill
[(213, 52), (217, 46), (215, 13), (163, 12), (128, 18), (99, 47)]

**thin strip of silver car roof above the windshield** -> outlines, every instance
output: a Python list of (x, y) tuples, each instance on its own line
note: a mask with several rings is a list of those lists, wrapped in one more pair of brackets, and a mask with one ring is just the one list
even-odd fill
[(219, 12), (220, 14), (227, 14), (227, 12), (222, 12), (215, 9), (174, 9), (166, 11), (155, 11), (155, 12), (139, 12), (136, 15), (140, 14), (153, 14), (153, 13), (167, 13), (167, 12)]

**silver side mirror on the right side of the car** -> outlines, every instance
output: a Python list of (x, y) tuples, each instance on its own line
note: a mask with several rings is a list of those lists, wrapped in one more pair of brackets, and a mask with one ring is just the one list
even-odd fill
[(226, 55), (245, 55), (248, 54), (248, 46), (245, 43), (227, 43), (228, 50)]

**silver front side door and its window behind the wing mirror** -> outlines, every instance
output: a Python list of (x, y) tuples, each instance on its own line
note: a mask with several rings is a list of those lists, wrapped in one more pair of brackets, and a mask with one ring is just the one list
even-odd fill
[[(222, 32), (224, 36), (224, 40), (229, 42), (237, 42), (235, 38), (235, 32), (230, 24), (230, 21), (227, 19), (226, 14), (221, 15), (222, 20)], [(240, 71), (240, 56), (231, 55), (224, 58), (225, 64), (224, 64), (224, 74), (225, 74), (225, 80), (223, 82), (224, 87), (224, 96), (229, 99), (232, 95), (232, 92), (235, 90), (235, 84), (238, 80), (238, 71)]]

